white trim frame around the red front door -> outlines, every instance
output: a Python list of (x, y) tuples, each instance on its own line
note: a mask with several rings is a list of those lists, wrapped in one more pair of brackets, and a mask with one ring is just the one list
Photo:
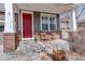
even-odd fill
[[(24, 38), (24, 37), (23, 37), (23, 13), (30, 13), (30, 14), (32, 14), (32, 38)], [(22, 11), (20, 11), (20, 17), (22, 17), (22, 40), (33, 39), (33, 12), (22, 10)]]

